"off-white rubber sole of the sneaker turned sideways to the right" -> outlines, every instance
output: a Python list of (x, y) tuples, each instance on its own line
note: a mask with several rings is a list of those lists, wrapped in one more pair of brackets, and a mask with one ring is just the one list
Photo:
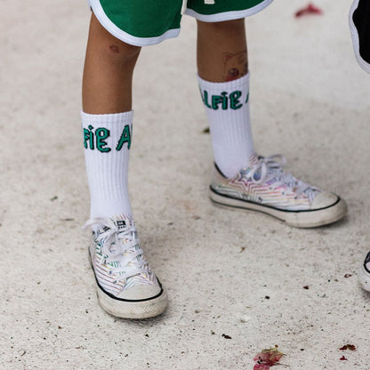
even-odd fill
[(340, 197), (329, 207), (313, 211), (284, 211), (268, 205), (259, 205), (242, 199), (226, 197), (210, 189), (210, 197), (214, 204), (233, 208), (247, 209), (269, 214), (294, 228), (317, 228), (339, 221), (347, 214), (347, 205)]

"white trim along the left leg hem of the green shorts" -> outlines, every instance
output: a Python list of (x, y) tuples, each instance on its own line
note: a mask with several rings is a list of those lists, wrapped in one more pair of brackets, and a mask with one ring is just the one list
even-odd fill
[(154, 44), (159, 44), (161, 41), (164, 41), (167, 38), (173, 38), (179, 36), (180, 28), (173, 28), (166, 31), (164, 34), (155, 37), (137, 37), (128, 34), (123, 31), (121, 28), (118, 28), (109, 17), (104, 12), (104, 9), (101, 6), (99, 0), (88, 0), (90, 6), (95, 14), (95, 17), (100, 21), (101, 26), (107, 29), (110, 34), (117, 37), (119, 40), (123, 41), (126, 44), (132, 44), (135, 46), (149, 46)]

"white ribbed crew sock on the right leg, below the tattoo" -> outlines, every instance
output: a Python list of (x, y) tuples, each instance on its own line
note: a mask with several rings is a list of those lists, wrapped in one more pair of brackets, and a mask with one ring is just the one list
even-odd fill
[(214, 83), (198, 76), (208, 117), (214, 162), (226, 177), (249, 165), (253, 137), (249, 114), (249, 73), (234, 81)]

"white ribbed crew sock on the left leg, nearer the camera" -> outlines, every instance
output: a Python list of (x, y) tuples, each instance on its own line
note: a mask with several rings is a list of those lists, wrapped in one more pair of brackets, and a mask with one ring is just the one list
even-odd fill
[(133, 111), (109, 115), (81, 112), (81, 117), (91, 218), (132, 214), (127, 175)]

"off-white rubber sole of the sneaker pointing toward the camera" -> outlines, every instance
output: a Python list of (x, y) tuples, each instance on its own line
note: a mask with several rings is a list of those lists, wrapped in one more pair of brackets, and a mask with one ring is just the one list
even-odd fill
[[(93, 269), (92, 256), (90, 254), (90, 248), (88, 248), (88, 257), (90, 265)], [(93, 270), (95, 277), (95, 272)], [(99, 286), (95, 277), (95, 286), (98, 296), (98, 302), (103, 310), (106, 310), (109, 314), (117, 318), (154, 318), (165, 312), (167, 307), (168, 299), (165, 289), (162, 293), (155, 298), (149, 298), (148, 300), (140, 301), (129, 301), (122, 300), (119, 298), (112, 298), (107, 294), (101, 286)]]

